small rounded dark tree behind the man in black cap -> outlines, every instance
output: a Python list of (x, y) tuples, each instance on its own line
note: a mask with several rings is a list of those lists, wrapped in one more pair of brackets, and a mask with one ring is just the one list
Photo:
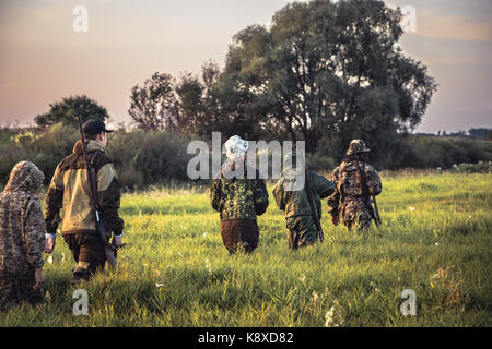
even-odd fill
[(56, 123), (78, 127), (78, 116), (85, 122), (89, 119), (105, 121), (109, 116), (106, 108), (85, 95), (70, 96), (49, 105), (49, 111), (38, 115), (34, 121), (38, 127), (46, 128)]

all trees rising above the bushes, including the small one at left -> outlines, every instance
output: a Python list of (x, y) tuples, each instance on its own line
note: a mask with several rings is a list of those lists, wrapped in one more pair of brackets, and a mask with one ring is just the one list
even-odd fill
[[(351, 139), (365, 139), (389, 163), (437, 87), (399, 47), (401, 17), (376, 0), (290, 3), (270, 26), (238, 32), (222, 69), (209, 61), (200, 75), (155, 72), (134, 85), (128, 113), (145, 131), (303, 140), (309, 153), (329, 148), (337, 159)], [(55, 104), (36, 123), (54, 124), (71, 110), (107, 117), (87, 103)]]

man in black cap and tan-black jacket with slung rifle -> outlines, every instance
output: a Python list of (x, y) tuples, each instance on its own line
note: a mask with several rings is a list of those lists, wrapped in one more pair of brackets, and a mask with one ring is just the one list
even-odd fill
[[(121, 245), (124, 220), (118, 215), (120, 189), (113, 161), (106, 154), (106, 125), (101, 120), (89, 120), (82, 127), (89, 161), (96, 174), (97, 195), (102, 220), (115, 245)], [(58, 164), (49, 184), (45, 214), (45, 252), (55, 248), (58, 224), (61, 234), (72, 251), (75, 261), (74, 281), (89, 279), (96, 269), (104, 269), (106, 256), (104, 244), (96, 232), (95, 213), (91, 205), (91, 191), (82, 141), (77, 141), (73, 153)], [(60, 209), (63, 218), (60, 218)]]

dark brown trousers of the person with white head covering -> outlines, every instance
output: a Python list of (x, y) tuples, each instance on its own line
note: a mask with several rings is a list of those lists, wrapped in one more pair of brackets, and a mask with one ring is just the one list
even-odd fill
[(221, 236), (230, 253), (238, 249), (249, 253), (258, 246), (259, 230), (254, 219), (221, 220)]

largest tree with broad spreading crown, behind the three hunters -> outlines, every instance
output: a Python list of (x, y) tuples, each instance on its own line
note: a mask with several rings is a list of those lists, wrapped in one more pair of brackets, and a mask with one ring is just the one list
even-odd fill
[(311, 152), (326, 137), (341, 154), (367, 134), (390, 146), (388, 134), (414, 129), (436, 89), (426, 67), (399, 47), (400, 22), (398, 9), (376, 0), (288, 4), (269, 28), (235, 35), (215, 87), (219, 109), (227, 120), (288, 132)]

